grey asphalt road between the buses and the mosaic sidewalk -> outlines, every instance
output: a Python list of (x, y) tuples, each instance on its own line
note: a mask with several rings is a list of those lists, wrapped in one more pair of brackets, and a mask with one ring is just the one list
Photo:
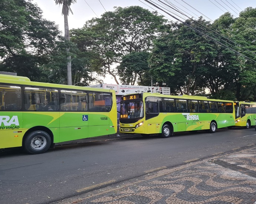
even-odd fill
[[(96, 140), (97, 138), (95, 138)], [(45, 204), (256, 144), (256, 131), (218, 129), (59, 145), (44, 154), (0, 152), (0, 203)]]

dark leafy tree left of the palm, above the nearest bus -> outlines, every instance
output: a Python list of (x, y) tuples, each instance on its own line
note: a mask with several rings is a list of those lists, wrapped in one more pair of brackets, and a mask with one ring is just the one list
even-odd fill
[(61, 40), (58, 26), (43, 19), (42, 10), (30, 0), (1, 1), (0, 16), (0, 70), (47, 80), (40, 67)]

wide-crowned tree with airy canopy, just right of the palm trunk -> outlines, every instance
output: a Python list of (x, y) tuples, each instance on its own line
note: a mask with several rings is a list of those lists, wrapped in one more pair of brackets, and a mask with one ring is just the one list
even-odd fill
[(111, 75), (118, 84), (118, 73), (113, 67), (124, 55), (149, 50), (164, 22), (166, 20), (157, 12), (139, 6), (116, 7), (101, 18), (87, 21), (82, 29), (71, 30), (70, 40), (81, 52), (94, 56), (92, 69), (95, 72), (101, 76)]

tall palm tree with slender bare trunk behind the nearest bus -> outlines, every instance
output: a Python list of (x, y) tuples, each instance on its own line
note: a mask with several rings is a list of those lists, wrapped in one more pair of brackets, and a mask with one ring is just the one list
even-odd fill
[[(62, 15), (64, 15), (64, 28), (65, 28), (65, 39), (70, 40), (69, 37), (69, 28), (68, 28), (68, 14), (69, 12), (73, 14), (70, 5), (76, 3), (76, 0), (55, 0), (56, 5), (62, 4)], [(69, 49), (67, 49), (69, 52)], [(68, 63), (67, 63), (67, 78), (68, 78), (68, 85), (72, 85), (72, 75), (71, 75), (71, 56), (68, 56)]]

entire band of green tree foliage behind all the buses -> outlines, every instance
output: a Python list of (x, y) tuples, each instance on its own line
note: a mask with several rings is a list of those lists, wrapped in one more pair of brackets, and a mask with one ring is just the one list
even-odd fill
[[(76, 1), (55, 2), (69, 3), (63, 5), (69, 13)], [(71, 30), (69, 42), (31, 0), (2, 0), (0, 70), (65, 84), (71, 63), (73, 84), (99, 82), (96, 72), (110, 74), (116, 83), (116, 75), (121, 82), (139, 79), (145, 86), (165, 82), (171, 94), (256, 101), (254, 22), (252, 7), (237, 18), (224, 13), (213, 23), (200, 17), (186, 25), (167, 24), (163, 16), (139, 6), (115, 7)]]

